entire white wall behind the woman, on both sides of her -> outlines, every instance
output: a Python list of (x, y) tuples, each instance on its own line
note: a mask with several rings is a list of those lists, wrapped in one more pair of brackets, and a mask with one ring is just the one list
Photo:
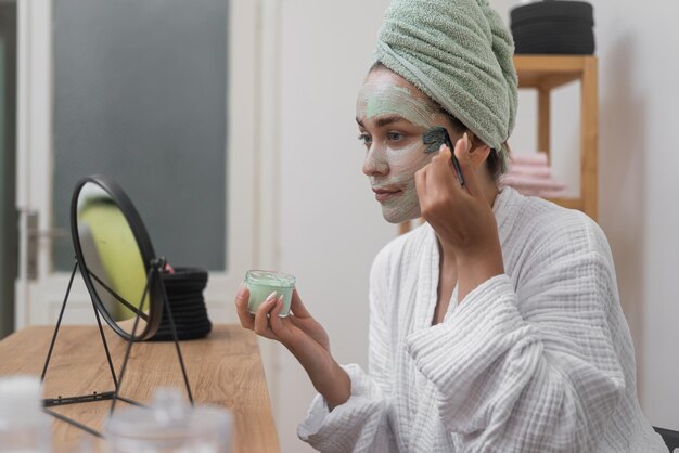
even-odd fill
[[(342, 362), (366, 364), (368, 270), (395, 235), (360, 167), (355, 99), (387, 0), (280, 3), (280, 269), (328, 327)], [(637, 347), (642, 407), (679, 429), (679, 3), (594, 0), (600, 59), (600, 223), (612, 245)], [(491, 0), (504, 16), (514, 4)], [(577, 186), (578, 87), (553, 98), (558, 176)], [(535, 147), (535, 96), (522, 93), (514, 150)], [(285, 453), (313, 396), (286, 351), (278, 354), (277, 423)], [(274, 373), (276, 373), (274, 372)], [(271, 375), (273, 378), (274, 375)]]

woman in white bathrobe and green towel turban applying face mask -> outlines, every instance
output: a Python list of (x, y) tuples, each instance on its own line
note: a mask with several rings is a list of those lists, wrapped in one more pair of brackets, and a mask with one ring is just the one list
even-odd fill
[[(244, 327), (282, 342), (319, 396), (299, 437), (328, 452), (662, 452), (636, 394), (608, 244), (585, 215), (501, 192), (513, 43), (486, 0), (389, 7), (357, 103), (390, 222), (370, 275), (369, 372), (338, 365), (295, 293)], [(428, 145), (445, 127), (454, 150)], [(458, 180), (457, 156), (464, 184)]]

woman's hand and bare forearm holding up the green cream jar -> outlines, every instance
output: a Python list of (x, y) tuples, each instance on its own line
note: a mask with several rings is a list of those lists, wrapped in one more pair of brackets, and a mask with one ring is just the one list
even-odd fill
[(330, 340), (323, 326), (306, 309), (297, 289), (293, 290), (291, 313), (279, 318), (283, 309), (282, 297), (271, 294), (261, 302), (257, 313), (247, 310), (249, 290), (242, 284), (235, 296), (235, 308), (244, 328), (281, 342), (306, 370), (313, 387), (332, 410), (349, 399), (351, 383), (346, 372), (330, 354)]

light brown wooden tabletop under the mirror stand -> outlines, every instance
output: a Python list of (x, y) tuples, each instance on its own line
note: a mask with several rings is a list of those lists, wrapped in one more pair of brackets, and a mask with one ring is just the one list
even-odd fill
[[(127, 342), (104, 327), (116, 374)], [(0, 376), (39, 376), (54, 327), (26, 327), (0, 341)], [(191, 390), (196, 403), (228, 407), (234, 416), (234, 453), (279, 452), (269, 392), (255, 335), (236, 325), (215, 326), (201, 340), (182, 341)], [(174, 342), (141, 342), (132, 352), (121, 396), (148, 403), (158, 386), (182, 389), (183, 379)], [(62, 326), (44, 379), (46, 398), (90, 394), (114, 390), (99, 329), (95, 326)], [(185, 391), (184, 391), (185, 393)], [(111, 401), (54, 407), (78, 422), (101, 430)], [(116, 411), (129, 407), (118, 402)], [(52, 418), (55, 453), (76, 451), (84, 437), (101, 450), (98, 438)]]

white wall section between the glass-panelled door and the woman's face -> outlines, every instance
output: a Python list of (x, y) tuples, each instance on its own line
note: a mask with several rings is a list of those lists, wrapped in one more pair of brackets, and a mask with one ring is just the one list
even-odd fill
[[(387, 1), (282, 2), (280, 269), (297, 276), (341, 363), (367, 362), (368, 272), (396, 234), (384, 221), (358, 141), (356, 95)], [(315, 394), (287, 351), (279, 354), (280, 440), (311, 451), (296, 426)]]

